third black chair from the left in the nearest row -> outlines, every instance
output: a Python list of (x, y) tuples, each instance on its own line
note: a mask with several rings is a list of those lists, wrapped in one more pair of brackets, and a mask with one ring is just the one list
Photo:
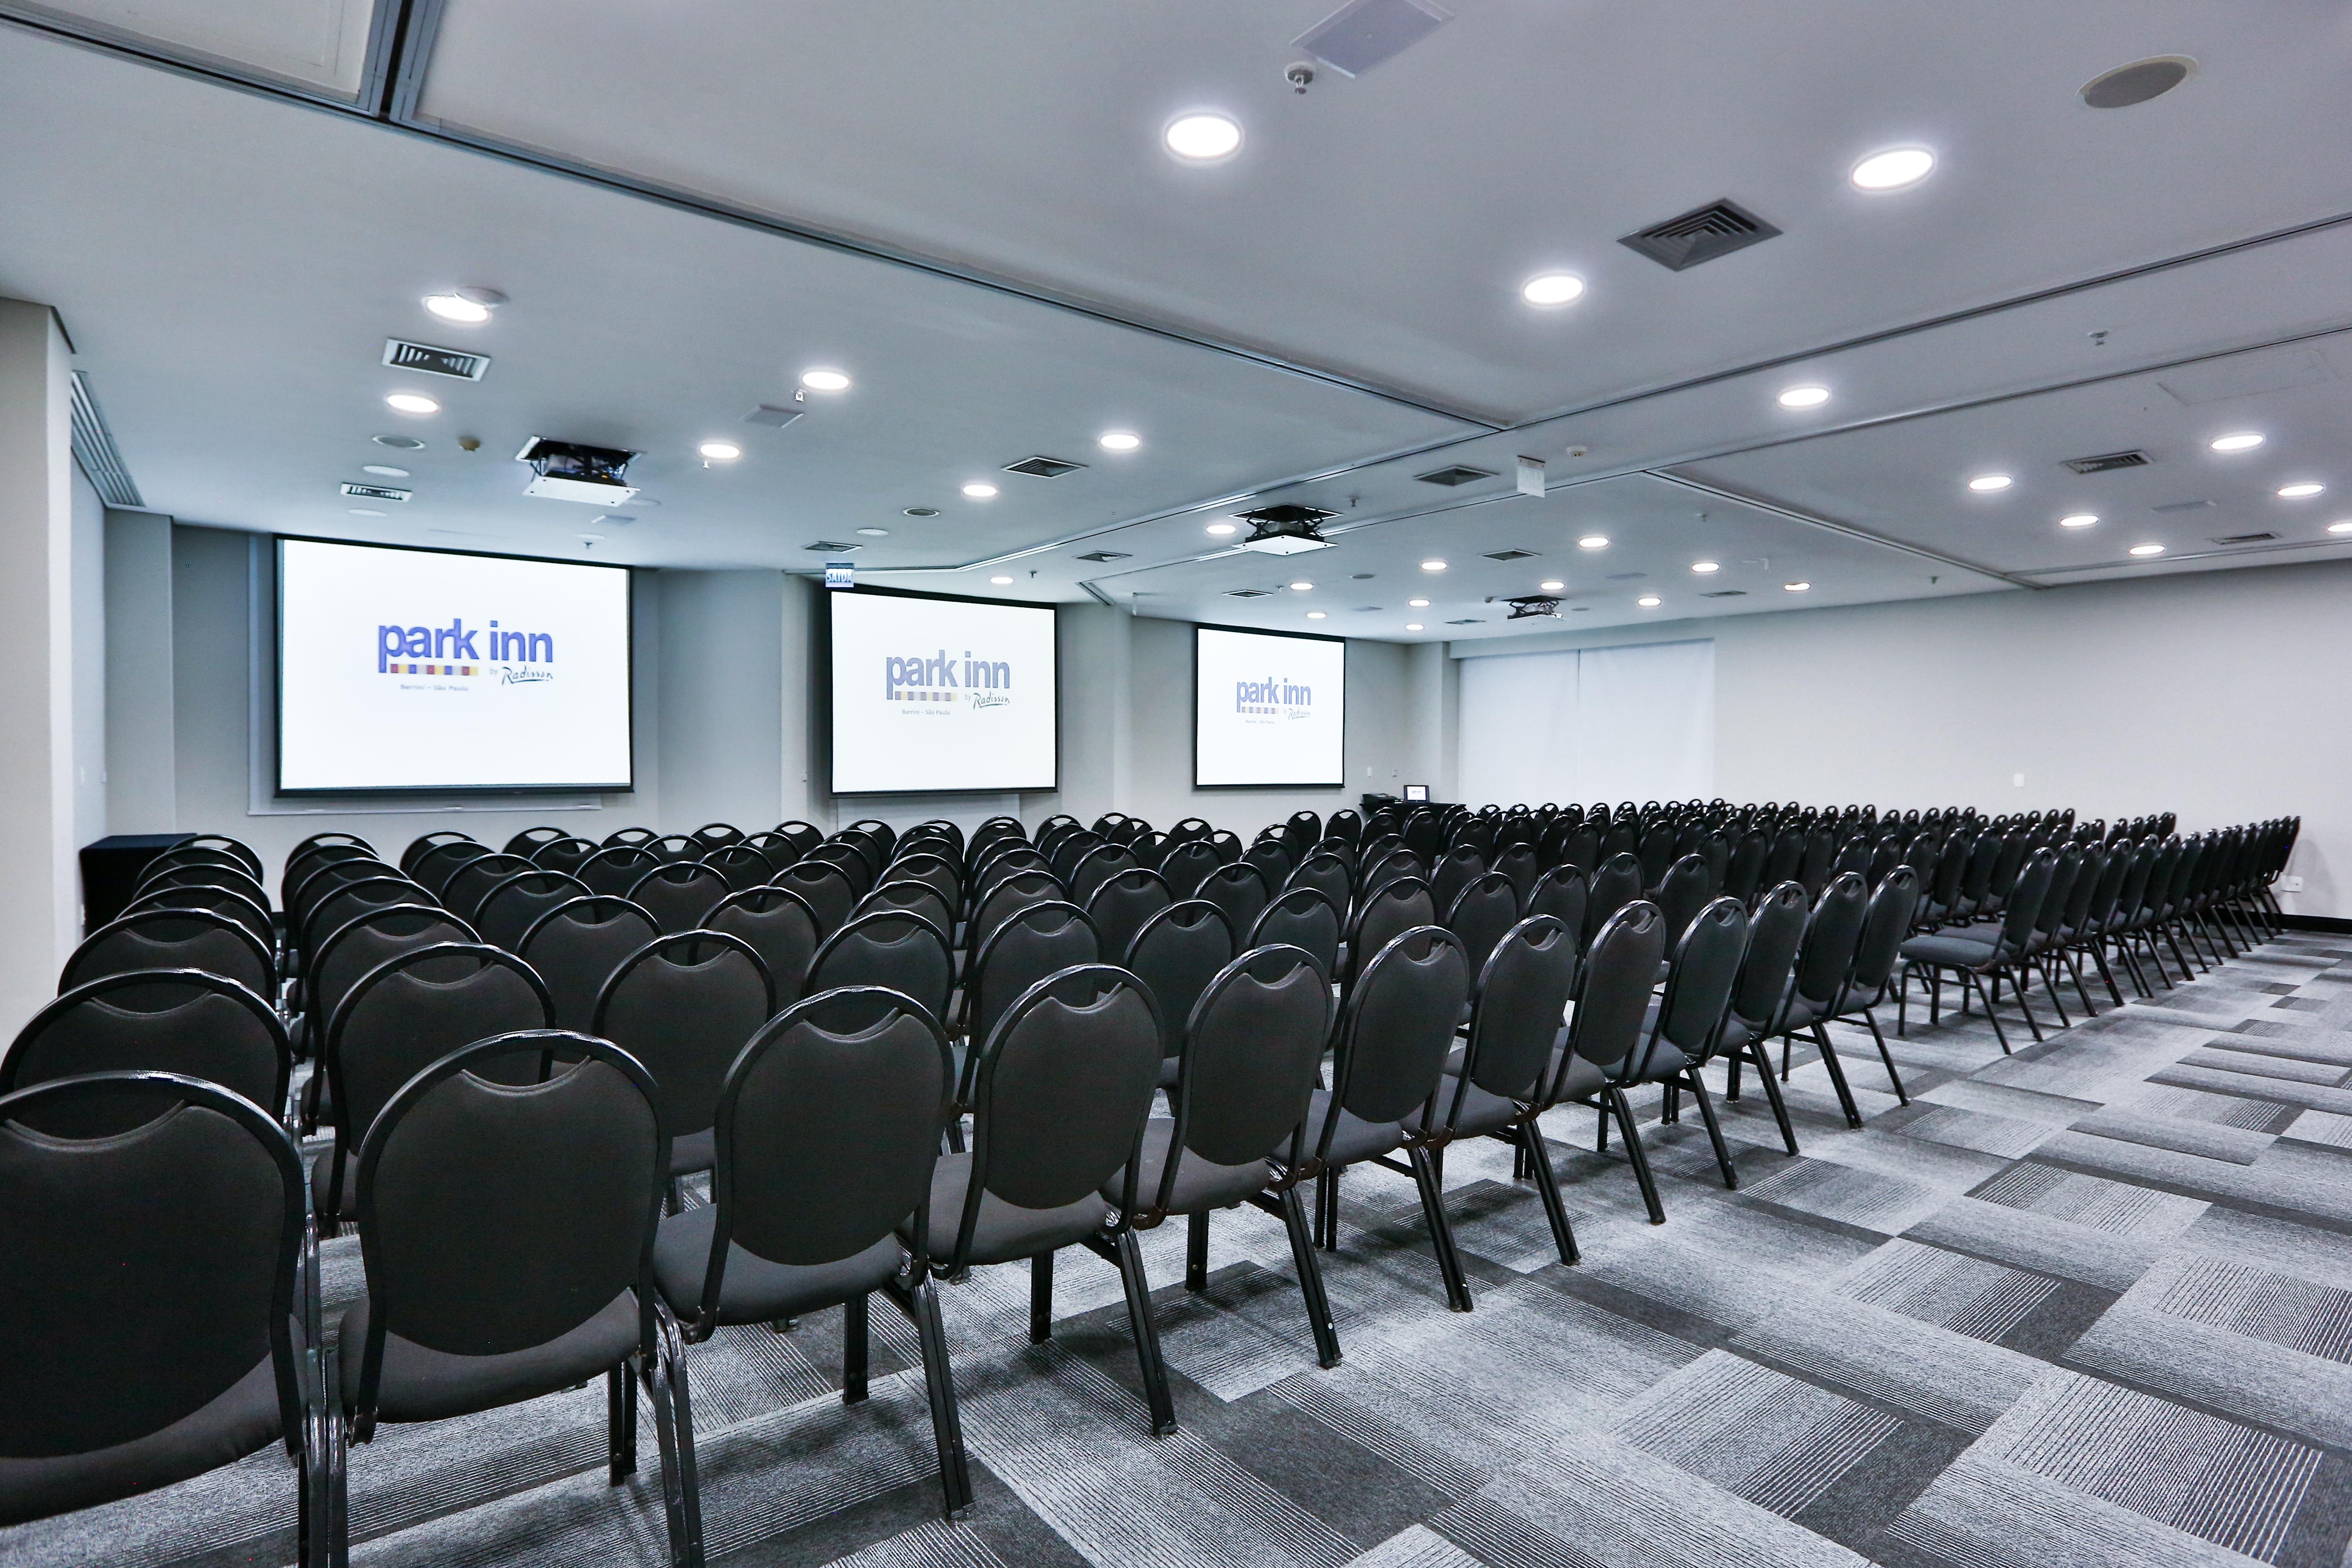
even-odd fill
[(908, 997), (854, 987), (786, 1009), (720, 1086), (710, 1201), (654, 1239), (687, 1342), (842, 1307), (842, 1403), (866, 1399), (868, 1300), (889, 1298), (915, 1328), (950, 1519), (971, 1502), (971, 1476), (927, 1220), (953, 1088), (948, 1039)]

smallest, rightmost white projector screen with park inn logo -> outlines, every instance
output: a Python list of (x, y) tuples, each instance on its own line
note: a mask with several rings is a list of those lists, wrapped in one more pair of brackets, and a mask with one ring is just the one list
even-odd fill
[(1348, 780), (1348, 642), (1192, 628), (1192, 785)]

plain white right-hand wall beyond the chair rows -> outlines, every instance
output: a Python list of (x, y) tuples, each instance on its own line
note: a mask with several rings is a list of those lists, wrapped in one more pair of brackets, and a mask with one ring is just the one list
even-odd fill
[[(2303, 816), (2286, 907), (2352, 914), (2352, 562), (1454, 644), (1715, 637), (1726, 799)], [(2013, 785), (2023, 773), (2025, 785)]]

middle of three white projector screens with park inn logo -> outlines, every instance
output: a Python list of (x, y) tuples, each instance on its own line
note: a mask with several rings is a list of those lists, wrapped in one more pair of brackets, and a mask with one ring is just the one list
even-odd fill
[(1054, 607), (835, 588), (833, 792), (1061, 785)]

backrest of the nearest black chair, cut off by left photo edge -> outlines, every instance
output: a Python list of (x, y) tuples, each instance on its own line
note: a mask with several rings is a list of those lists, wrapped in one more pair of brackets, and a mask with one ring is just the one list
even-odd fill
[[(158, 1117), (160, 1100), (179, 1105)], [(94, 1140), (33, 1131), (122, 1126), (141, 1105), (153, 1119)], [(24, 1469), (38, 1474), (38, 1460), (165, 1432), (263, 1361), (275, 1366), (278, 1418), (299, 1448), (292, 1321), (306, 1218), (294, 1140), (270, 1112), (216, 1084), (122, 1072), (0, 1098), (0, 1258), (19, 1279), (0, 1291), (9, 1460), (31, 1460)], [(12, 1479), (12, 1509), (40, 1497), (38, 1486), (28, 1490)], [(103, 1500), (59, 1495), (31, 1512)]]

